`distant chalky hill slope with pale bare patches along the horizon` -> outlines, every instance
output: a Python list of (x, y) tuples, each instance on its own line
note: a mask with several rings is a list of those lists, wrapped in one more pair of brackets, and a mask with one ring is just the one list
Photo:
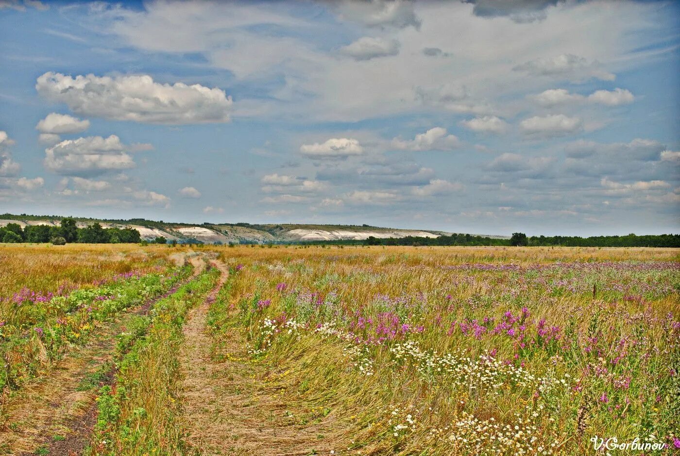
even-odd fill
[[(16, 223), (27, 225), (56, 226), (63, 217), (57, 215), (0, 215), (0, 226)], [(129, 226), (139, 231), (142, 239), (152, 240), (164, 236), (178, 242), (201, 241), (206, 244), (228, 243), (294, 243), (301, 241), (363, 241), (370, 236), (379, 239), (403, 238), (406, 236), (435, 238), (448, 232), (435, 230), (402, 230), (398, 228), (379, 228), (368, 225), (315, 225), (315, 224), (181, 224), (156, 222), (154, 220), (100, 220), (73, 217), (79, 227), (99, 222), (104, 228), (124, 228)], [(489, 236), (508, 239), (509, 236)]]

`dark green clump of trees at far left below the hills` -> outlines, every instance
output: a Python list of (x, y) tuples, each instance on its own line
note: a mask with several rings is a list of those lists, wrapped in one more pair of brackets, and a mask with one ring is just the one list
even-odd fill
[[(65, 217), (61, 226), (27, 225), (10, 223), (0, 227), (0, 241), (5, 243), (66, 243), (118, 244), (140, 243), (141, 235), (134, 228), (103, 228), (93, 223), (85, 228), (78, 228), (75, 219)], [(165, 238), (163, 238), (165, 244)]]

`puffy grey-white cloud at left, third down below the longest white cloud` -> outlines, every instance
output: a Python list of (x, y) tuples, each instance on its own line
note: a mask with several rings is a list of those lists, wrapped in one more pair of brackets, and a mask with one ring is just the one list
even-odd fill
[(61, 175), (98, 175), (135, 167), (120, 138), (111, 135), (82, 137), (61, 141), (45, 150), (43, 163)]

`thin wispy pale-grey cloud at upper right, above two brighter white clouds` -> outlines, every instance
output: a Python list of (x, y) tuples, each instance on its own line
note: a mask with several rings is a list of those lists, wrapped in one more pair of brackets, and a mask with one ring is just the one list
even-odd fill
[(598, 61), (588, 61), (584, 57), (574, 54), (560, 54), (552, 58), (537, 58), (529, 62), (517, 65), (514, 71), (523, 71), (533, 76), (548, 76), (556, 79), (564, 79), (574, 82), (588, 80), (592, 77), (613, 81), (615, 75), (603, 71)]

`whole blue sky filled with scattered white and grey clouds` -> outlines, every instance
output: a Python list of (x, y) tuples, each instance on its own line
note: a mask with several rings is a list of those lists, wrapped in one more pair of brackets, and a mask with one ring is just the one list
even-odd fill
[(0, 0), (0, 213), (680, 232), (680, 2)]

